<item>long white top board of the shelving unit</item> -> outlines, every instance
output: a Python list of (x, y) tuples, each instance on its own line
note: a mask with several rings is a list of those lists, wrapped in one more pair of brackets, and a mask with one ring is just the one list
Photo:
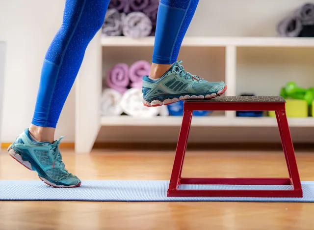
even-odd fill
[[(133, 39), (125, 36), (102, 36), (101, 45), (114, 46), (154, 46), (155, 37)], [(314, 38), (290, 37), (185, 37), (184, 47), (314, 47)]]

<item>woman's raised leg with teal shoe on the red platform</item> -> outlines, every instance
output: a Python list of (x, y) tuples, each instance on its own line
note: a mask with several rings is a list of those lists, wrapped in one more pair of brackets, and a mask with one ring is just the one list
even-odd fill
[(150, 76), (143, 77), (145, 106), (179, 100), (212, 98), (226, 90), (223, 82), (208, 82), (186, 72), (177, 61), (185, 33), (199, 0), (160, 0)]

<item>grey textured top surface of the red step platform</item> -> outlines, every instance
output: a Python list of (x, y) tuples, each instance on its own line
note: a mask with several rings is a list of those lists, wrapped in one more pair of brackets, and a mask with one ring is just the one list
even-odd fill
[(218, 96), (207, 100), (187, 100), (185, 102), (279, 102), (285, 103), (283, 97), (257, 97), (257, 96)]

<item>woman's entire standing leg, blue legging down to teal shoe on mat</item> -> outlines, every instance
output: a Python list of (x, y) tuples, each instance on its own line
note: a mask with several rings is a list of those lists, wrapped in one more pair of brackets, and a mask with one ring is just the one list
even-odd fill
[(66, 0), (63, 24), (55, 35), (42, 67), (34, 116), (9, 147), (13, 158), (35, 170), (47, 184), (77, 187), (78, 177), (65, 170), (54, 130), (73, 86), (87, 45), (102, 27), (109, 0)]

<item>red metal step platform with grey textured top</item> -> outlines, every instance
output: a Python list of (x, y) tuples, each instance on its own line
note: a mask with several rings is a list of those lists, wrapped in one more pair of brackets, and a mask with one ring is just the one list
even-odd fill
[[(181, 176), (193, 111), (275, 111), (286, 157), (287, 178), (184, 178)], [(290, 190), (183, 190), (181, 184), (291, 185)], [(169, 183), (168, 197), (302, 197), (302, 186), (283, 97), (216, 97), (185, 101), (184, 114)]]

